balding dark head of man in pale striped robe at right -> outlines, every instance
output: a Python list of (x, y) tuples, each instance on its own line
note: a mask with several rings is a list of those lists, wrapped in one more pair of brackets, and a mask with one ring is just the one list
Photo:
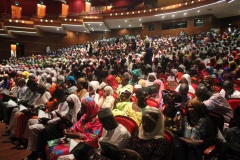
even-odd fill
[(208, 100), (213, 95), (204, 84), (199, 84), (196, 88), (196, 96), (199, 100)]

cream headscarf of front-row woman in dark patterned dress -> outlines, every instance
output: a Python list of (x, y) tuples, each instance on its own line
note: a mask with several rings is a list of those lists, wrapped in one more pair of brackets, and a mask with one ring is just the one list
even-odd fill
[(153, 121), (155, 121), (155, 118), (153, 115), (158, 116), (158, 120), (156, 121), (156, 126), (153, 129), (152, 132), (146, 133), (143, 130), (143, 126), (141, 124), (140, 130), (139, 130), (139, 138), (143, 140), (150, 140), (150, 139), (159, 139), (163, 137), (164, 134), (164, 120), (163, 115), (161, 111), (155, 107), (146, 108), (143, 112), (143, 116), (148, 115)]

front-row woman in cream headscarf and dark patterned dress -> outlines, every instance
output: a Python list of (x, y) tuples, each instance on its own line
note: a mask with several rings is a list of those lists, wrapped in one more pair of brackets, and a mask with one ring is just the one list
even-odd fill
[(142, 124), (137, 137), (132, 137), (127, 148), (122, 150), (123, 159), (166, 160), (166, 140), (161, 111), (147, 108), (143, 112)]

